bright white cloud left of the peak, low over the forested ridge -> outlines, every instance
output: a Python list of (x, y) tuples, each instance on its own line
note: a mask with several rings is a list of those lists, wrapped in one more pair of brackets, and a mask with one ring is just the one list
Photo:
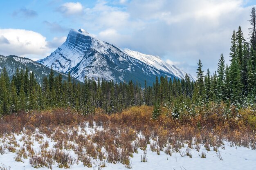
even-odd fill
[(55, 37), (48, 42), (40, 33), (24, 29), (0, 29), (0, 54), (41, 59), (65, 42), (66, 37)]

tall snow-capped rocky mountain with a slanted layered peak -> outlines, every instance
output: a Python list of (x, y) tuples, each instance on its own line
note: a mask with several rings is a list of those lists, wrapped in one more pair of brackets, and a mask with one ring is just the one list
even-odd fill
[(185, 76), (184, 71), (159, 57), (122, 50), (98, 40), (83, 29), (70, 30), (66, 41), (58, 49), (37, 62), (62, 73), (70, 72), (81, 82), (87, 76), (115, 82), (133, 80), (141, 84), (147, 80), (152, 85), (156, 76)]

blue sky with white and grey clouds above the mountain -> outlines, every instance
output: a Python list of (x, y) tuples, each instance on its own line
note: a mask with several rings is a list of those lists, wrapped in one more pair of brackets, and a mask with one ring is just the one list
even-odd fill
[(198, 60), (213, 73), (221, 53), (229, 63), (231, 34), (249, 40), (256, 0), (1, 0), (0, 54), (39, 60), (70, 29), (145, 54), (196, 76)]

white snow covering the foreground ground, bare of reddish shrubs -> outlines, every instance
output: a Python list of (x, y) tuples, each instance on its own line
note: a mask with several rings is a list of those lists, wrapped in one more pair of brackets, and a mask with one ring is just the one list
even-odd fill
[[(87, 136), (85, 139), (90, 140), (95, 132), (102, 130), (102, 127), (93, 126), (90, 128), (87, 124), (86, 126), (79, 127), (76, 135)], [(68, 133), (72, 133), (71, 131), (69, 130)], [(150, 140), (150, 143), (153, 144), (154, 141)], [(67, 144), (76, 145), (72, 141), (67, 141)], [(4, 170), (4, 168), (7, 170), (33, 170), (35, 168), (46, 170), (48, 168), (45, 166), (35, 166), (35, 168), (31, 166), (29, 155), (41, 155), (43, 150), (56, 150), (56, 145), (57, 142), (54, 141), (54, 135), (48, 138), (47, 135), (38, 132), (38, 130), (30, 135), (26, 135), (26, 131), (23, 131), (18, 135), (2, 136), (0, 138), (0, 167), (2, 169), (0, 168), (0, 170)], [(106, 159), (107, 153), (104, 153), (104, 148), (101, 148), (99, 152), (104, 153), (105, 156), (101, 160), (99, 157), (96, 159), (91, 157), (89, 159), (91, 167), (84, 166), (72, 147), (62, 149), (61, 152), (67, 153), (72, 159), (70, 168), (74, 170), (126, 170), (127, 168), (132, 170), (256, 170), (256, 150), (232, 145), (227, 141), (218, 148), (205, 148), (204, 144), (192, 144), (190, 147), (187, 144), (183, 144), (178, 151), (169, 146), (171, 148), (169, 154), (159, 151), (158, 155), (157, 152), (153, 152), (150, 149), (150, 144), (148, 144), (146, 148), (142, 148), (144, 150), (138, 148), (137, 153), (133, 153), (132, 157), (129, 157), (128, 165), (121, 162), (109, 163)], [(22, 148), (24, 152), (21, 153), (20, 150)], [(32, 153), (29, 154), (31, 150)], [(202, 154), (205, 154), (206, 158), (202, 158)], [(141, 162), (141, 157), (145, 157), (145, 162)], [(52, 160), (51, 168), (53, 170), (61, 169), (58, 167), (60, 164), (56, 160)]]

